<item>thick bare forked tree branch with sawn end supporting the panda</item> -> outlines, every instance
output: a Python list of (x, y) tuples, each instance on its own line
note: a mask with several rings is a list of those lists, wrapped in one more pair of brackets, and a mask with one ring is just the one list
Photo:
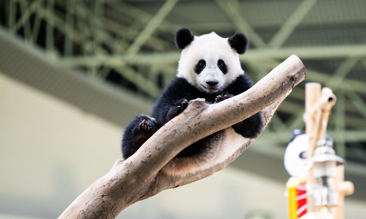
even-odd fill
[(223, 169), (256, 138), (250, 139), (224, 162), (209, 169), (184, 177), (171, 176), (161, 170), (187, 146), (261, 110), (267, 126), (285, 96), (305, 78), (304, 65), (296, 55), (291, 55), (240, 95), (210, 105), (204, 99), (190, 101), (186, 110), (160, 128), (135, 154), (126, 161), (117, 160), (112, 169), (77, 197), (59, 219), (112, 219), (136, 201), (165, 189), (192, 183)]

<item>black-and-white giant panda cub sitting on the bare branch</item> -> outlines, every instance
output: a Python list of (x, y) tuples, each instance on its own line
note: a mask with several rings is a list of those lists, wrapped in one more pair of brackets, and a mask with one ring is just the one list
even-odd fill
[[(157, 99), (152, 117), (139, 114), (126, 127), (122, 139), (124, 159), (180, 114), (190, 100), (204, 98), (206, 103), (215, 104), (253, 85), (239, 62), (239, 54), (243, 54), (248, 46), (244, 34), (238, 32), (230, 38), (222, 38), (212, 32), (197, 37), (188, 29), (181, 28), (176, 32), (175, 44), (182, 50), (177, 77)], [(164, 166), (163, 171), (184, 175), (210, 168), (234, 154), (250, 138), (257, 137), (262, 128), (262, 113), (258, 112), (188, 146)]]

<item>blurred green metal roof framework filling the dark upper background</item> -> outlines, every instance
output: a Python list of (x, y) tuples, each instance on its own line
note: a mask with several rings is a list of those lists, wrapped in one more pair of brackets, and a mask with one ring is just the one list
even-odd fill
[[(240, 59), (255, 81), (296, 54), (307, 82), (335, 92), (328, 129), (337, 153), (366, 163), (364, 0), (2, 0), (0, 8), (8, 35), (40, 47), (63, 68), (150, 99), (175, 77), (178, 28), (223, 37), (242, 31), (250, 49)], [(304, 100), (302, 84), (281, 105), (264, 141), (285, 146), (292, 130), (304, 127)]]

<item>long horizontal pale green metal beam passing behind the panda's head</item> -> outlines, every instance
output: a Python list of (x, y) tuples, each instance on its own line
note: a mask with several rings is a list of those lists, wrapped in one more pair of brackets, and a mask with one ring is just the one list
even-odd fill
[[(240, 55), (240, 61), (244, 62), (264, 62), (263, 65), (269, 64), (268, 59), (286, 59), (290, 55), (296, 54), (300, 59), (330, 59), (366, 57), (366, 45), (347, 45), (347, 46), (306, 46), (306, 47), (286, 47), (278, 49), (255, 49), (248, 50), (246, 54)], [(179, 60), (179, 52), (166, 53), (139, 53), (135, 55), (97, 55), (89, 57), (73, 57), (61, 58), (60, 63), (64, 66), (88, 65), (95, 62), (106, 62), (106, 64), (115, 65), (120, 61), (130, 64), (154, 64), (154, 63), (174, 63)], [(277, 62), (278, 63), (278, 62)]]

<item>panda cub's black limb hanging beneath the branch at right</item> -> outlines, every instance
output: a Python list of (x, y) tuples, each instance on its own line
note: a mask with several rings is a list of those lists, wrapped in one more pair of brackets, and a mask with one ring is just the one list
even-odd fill
[(232, 127), (234, 128), (235, 132), (242, 135), (243, 137), (255, 138), (261, 133), (264, 125), (263, 123), (262, 112), (257, 112), (257, 114), (250, 116), (242, 122), (236, 123)]

